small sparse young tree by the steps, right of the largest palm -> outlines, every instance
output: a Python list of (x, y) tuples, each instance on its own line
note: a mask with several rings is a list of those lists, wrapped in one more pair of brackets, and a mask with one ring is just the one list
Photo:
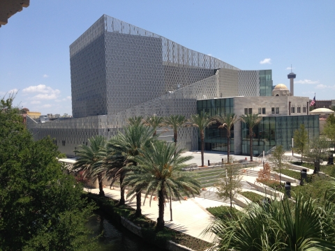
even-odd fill
[(242, 190), (241, 175), (239, 174), (240, 166), (237, 165), (226, 165), (225, 172), (222, 172), (219, 176), (218, 183), (215, 187), (218, 190), (218, 197), (229, 198), (230, 200), (230, 211), (232, 211), (232, 201), (239, 192)]

